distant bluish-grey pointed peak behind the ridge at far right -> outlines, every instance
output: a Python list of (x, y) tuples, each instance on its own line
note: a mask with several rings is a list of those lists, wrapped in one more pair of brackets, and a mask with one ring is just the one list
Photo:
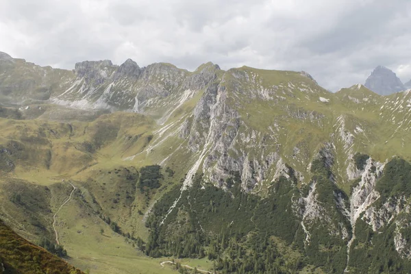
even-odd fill
[(379, 95), (390, 95), (406, 89), (397, 75), (385, 66), (377, 66), (364, 86)]

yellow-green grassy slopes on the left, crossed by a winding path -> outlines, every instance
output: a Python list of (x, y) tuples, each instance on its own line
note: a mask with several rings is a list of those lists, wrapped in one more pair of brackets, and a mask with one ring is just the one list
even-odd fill
[[(170, 265), (160, 265), (173, 258), (149, 258), (123, 236), (147, 238), (138, 212), (145, 212), (180, 178), (162, 169), (160, 188), (142, 192), (140, 169), (151, 160), (123, 160), (147, 149), (151, 123), (147, 116), (121, 112), (87, 122), (1, 118), (1, 218), (33, 242), (42, 237), (54, 242), (53, 214), (69, 197), (72, 182), (78, 190), (55, 223), (71, 264), (92, 274), (175, 273)], [(120, 233), (101, 216), (116, 222)], [(16, 258), (25, 260), (18, 254)], [(208, 269), (202, 260), (182, 264)]]

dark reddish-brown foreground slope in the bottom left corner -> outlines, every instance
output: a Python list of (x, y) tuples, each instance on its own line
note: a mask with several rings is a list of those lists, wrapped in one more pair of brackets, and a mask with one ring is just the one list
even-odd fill
[[(73, 273), (82, 271), (18, 236), (0, 220), (0, 273)], [(4, 270), (3, 270), (4, 269)]]

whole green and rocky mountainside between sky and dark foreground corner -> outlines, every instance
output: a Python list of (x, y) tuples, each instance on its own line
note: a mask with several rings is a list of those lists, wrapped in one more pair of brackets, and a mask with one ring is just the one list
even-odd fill
[(82, 271), (410, 273), (409, 90), (0, 57), (0, 219)]

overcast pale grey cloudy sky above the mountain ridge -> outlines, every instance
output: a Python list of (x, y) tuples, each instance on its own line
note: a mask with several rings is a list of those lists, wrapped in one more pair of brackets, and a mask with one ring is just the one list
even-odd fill
[(377, 65), (411, 79), (409, 0), (0, 0), (0, 51), (42, 66), (171, 62), (307, 71), (329, 90)]

